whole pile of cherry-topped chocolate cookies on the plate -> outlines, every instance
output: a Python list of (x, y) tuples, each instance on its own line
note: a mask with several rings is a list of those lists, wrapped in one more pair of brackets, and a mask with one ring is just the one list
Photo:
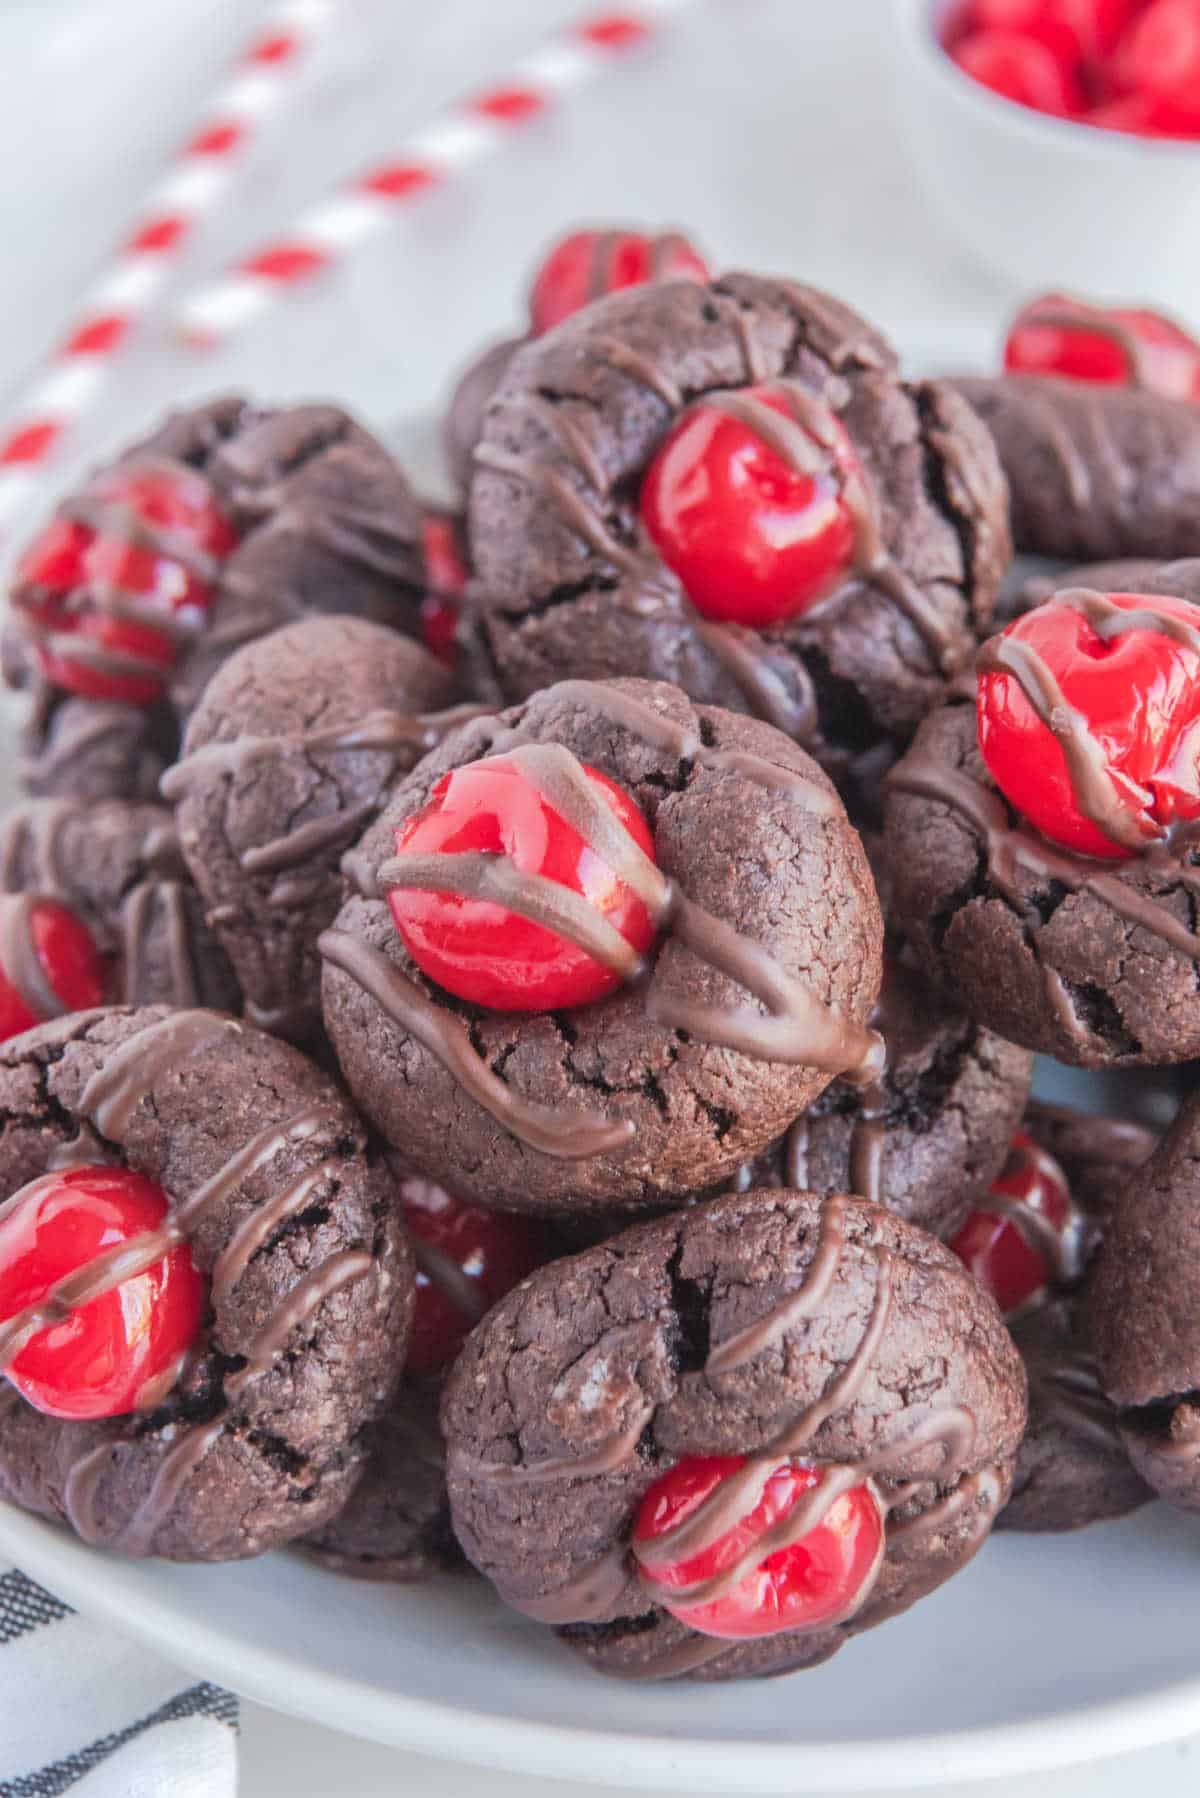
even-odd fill
[(822, 1661), (993, 1525), (1200, 1509), (1200, 1100), (1029, 1097), (1200, 1057), (1159, 325), (1049, 297), (1036, 372), (907, 379), (583, 230), (455, 392), (461, 512), (227, 397), (59, 505), (4, 640), (9, 1500), (473, 1568), (649, 1679)]

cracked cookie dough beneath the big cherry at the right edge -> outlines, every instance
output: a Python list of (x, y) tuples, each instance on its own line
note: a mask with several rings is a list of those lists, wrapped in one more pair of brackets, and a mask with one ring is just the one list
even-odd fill
[(891, 771), (885, 856), (921, 966), (979, 1023), (1085, 1068), (1200, 1054), (1193, 852), (1047, 843), (988, 773), (973, 705), (934, 712)]

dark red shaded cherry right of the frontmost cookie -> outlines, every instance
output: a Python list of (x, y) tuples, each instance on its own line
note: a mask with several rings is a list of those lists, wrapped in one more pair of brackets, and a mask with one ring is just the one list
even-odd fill
[[(1009, 1158), (988, 1190), (1038, 1212), (1060, 1235), (1065, 1235), (1078, 1215), (1061, 1167), (1025, 1131), (1013, 1136)], [(1054, 1278), (1054, 1269), (1020, 1221), (988, 1210), (986, 1201), (948, 1237), (948, 1248), (991, 1293), (1006, 1316), (1024, 1311)]]

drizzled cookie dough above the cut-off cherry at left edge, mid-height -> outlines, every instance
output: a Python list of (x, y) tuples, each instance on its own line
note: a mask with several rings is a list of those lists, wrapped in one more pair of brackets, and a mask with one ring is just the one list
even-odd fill
[(83, 919), (121, 1003), (239, 1009), (237, 980), (164, 806), (18, 806), (0, 823), (0, 892), (56, 899)]

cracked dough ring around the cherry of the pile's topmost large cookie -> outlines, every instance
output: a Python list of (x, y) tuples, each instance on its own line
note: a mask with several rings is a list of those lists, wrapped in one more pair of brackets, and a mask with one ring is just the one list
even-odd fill
[[(853, 575), (779, 629), (714, 629), (642, 538), (637, 484), (687, 403), (777, 378), (838, 412), (923, 626), (887, 583)], [(851, 784), (970, 658), (1009, 554), (1004, 476), (970, 406), (901, 383), (849, 307), (756, 275), (619, 293), (520, 349), (488, 406), (470, 532), (509, 699), (569, 674), (669, 680), (768, 717)]]

